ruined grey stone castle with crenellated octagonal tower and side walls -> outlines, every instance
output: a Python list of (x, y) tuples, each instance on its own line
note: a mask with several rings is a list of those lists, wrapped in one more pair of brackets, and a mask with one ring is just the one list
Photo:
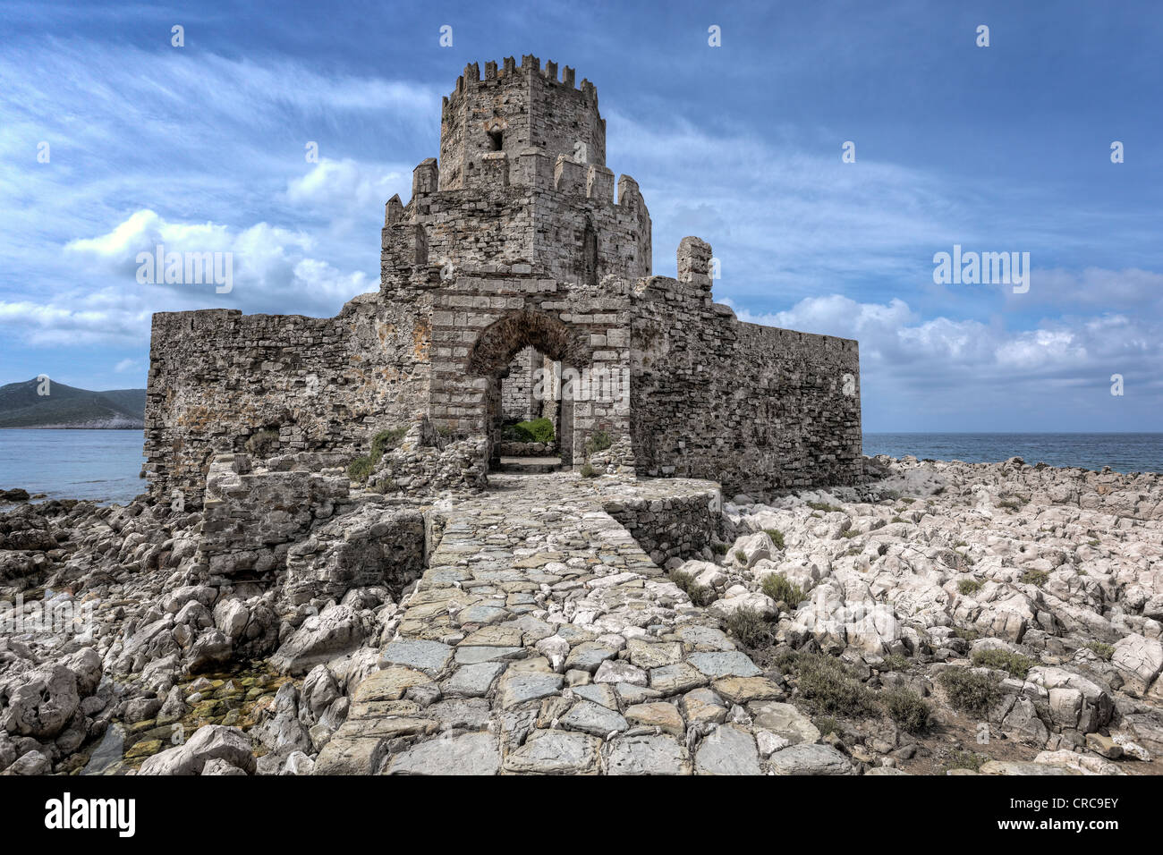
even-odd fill
[(651, 249), (637, 183), (606, 168), (593, 84), (533, 56), (471, 64), (443, 99), (440, 161), (387, 201), (378, 293), (335, 318), (154, 315), (151, 492), (197, 505), (212, 459), (258, 437), (334, 462), (418, 418), (483, 464), (506, 421), (544, 416), (566, 469), (728, 494), (855, 480), (857, 343), (740, 322), (714, 302), (707, 243), (683, 238), (676, 278)]

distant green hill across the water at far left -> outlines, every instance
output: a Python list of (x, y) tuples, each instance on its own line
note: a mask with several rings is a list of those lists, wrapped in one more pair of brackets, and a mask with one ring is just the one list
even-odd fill
[(144, 428), (145, 390), (91, 392), (50, 382), (37, 394), (34, 380), (0, 386), (0, 428)]

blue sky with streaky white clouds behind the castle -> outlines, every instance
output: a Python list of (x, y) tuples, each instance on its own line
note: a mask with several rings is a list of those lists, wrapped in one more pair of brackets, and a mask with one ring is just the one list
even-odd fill
[[(0, 384), (144, 386), (152, 312), (376, 290), (441, 97), (534, 54), (597, 85), (656, 273), (698, 235), (741, 318), (859, 340), (865, 430), (1163, 429), (1161, 42), (1154, 2), (5, 2)], [(158, 242), (233, 291), (138, 284)], [(954, 244), (1029, 291), (934, 284)]]

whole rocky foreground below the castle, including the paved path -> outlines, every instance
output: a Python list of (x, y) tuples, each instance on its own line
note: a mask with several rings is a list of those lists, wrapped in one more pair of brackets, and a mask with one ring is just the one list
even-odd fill
[(0, 513), (0, 774), (1163, 771), (1160, 475), (223, 465), (197, 511)]

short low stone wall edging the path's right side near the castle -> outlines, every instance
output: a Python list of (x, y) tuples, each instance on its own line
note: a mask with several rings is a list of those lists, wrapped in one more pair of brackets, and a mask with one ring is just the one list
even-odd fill
[(659, 567), (711, 546), (720, 532), (721, 508), (716, 491), (665, 499), (620, 498), (602, 505)]

